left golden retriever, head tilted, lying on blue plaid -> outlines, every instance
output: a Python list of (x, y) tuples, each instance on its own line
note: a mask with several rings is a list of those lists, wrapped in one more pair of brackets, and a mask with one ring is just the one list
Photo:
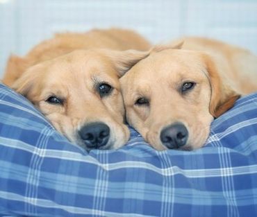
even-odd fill
[[(24, 58), (10, 60), (12, 67), (3, 78), (38, 107), (59, 132), (86, 150), (119, 148), (128, 140), (119, 78), (140, 55), (144, 56), (139, 51), (94, 48), (99, 43), (100, 47), (123, 50), (129, 44), (124, 42), (130, 39), (119, 41), (118, 35), (113, 37), (108, 31), (97, 37), (100, 32), (90, 32), (95, 37), (90, 36), (91, 41), (84, 44), (82, 38), (88, 36), (73, 34), (43, 42)], [(138, 39), (131, 37), (132, 48), (144, 47), (142, 37)], [(88, 43), (93, 42), (90, 49)], [(77, 49), (80, 46), (83, 49)]]

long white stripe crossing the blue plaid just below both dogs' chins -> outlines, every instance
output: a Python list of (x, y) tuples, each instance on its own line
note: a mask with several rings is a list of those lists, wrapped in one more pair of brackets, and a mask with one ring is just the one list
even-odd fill
[[(80, 153), (74, 153), (74, 152), (69, 152), (64, 150), (46, 150), (44, 155), (42, 155), (40, 153), (40, 148), (37, 148), (35, 146), (29, 146), (28, 144), (24, 144), (21, 141), (19, 142), (17, 141), (16, 144), (15, 142), (8, 143), (10, 139), (5, 139), (5, 141), (3, 141), (3, 139), (4, 138), (0, 137), (1, 146), (25, 150), (25, 151), (28, 151), (29, 153), (33, 153), (34, 155), (39, 155), (41, 157), (51, 157), (56, 159), (69, 160), (72, 162), (75, 161), (75, 162), (81, 162), (81, 163), (87, 163), (87, 164), (95, 164), (105, 169), (106, 171), (115, 171), (115, 170), (124, 169), (124, 168), (143, 168), (143, 169), (147, 169), (147, 170), (159, 173), (160, 175), (169, 176), (169, 175), (175, 175), (175, 174), (183, 174), (187, 177), (219, 177), (222, 174), (225, 174), (227, 176), (233, 176), (233, 175), (257, 173), (257, 164), (249, 165), (249, 166), (237, 166), (233, 168), (229, 168), (229, 167), (211, 168), (211, 169), (204, 168), (204, 169), (194, 169), (194, 170), (184, 170), (177, 166), (170, 166), (168, 168), (158, 168), (153, 164), (149, 164), (147, 162), (136, 162), (136, 161), (124, 161), (124, 162), (117, 162), (117, 163), (101, 164), (97, 159), (95, 159), (90, 155), (82, 155)], [(226, 150), (226, 149), (222, 148), (221, 150), (223, 152), (223, 150)], [(222, 152), (221, 152), (221, 155), (222, 155)], [(108, 155), (108, 153), (106, 153), (106, 155)]]

